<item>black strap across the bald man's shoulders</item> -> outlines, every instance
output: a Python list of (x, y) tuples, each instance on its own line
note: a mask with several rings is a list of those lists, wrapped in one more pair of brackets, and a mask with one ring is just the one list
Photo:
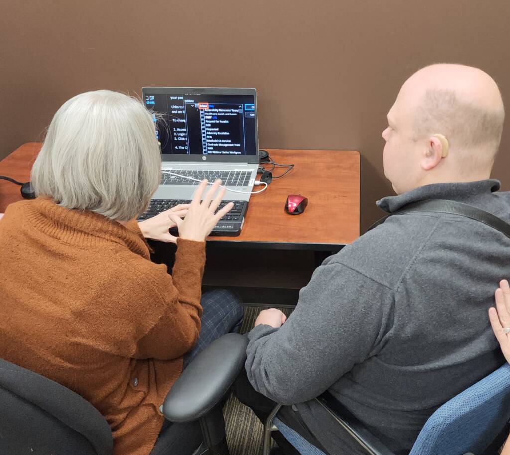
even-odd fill
[(400, 210), (397, 210), (391, 215), (377, 220), (372, 224), (367, 232), (374, 227), (382, 224), (388, 217), (394, 215), (403, 215), (403, 213), (410, 212), (442, 212), (452, 213), (452, 215), (462, 215), (476, 221), (480, 221), (493, 229), (498, 230), (502, 234), (510, 238), (510, 224), (503, 221), (501, 218), (492, 215), (488, 211), (482, 210), (481, 208), (473, 207), (472, 205), (464, 204), (462, 202), (450, 201), (449, 199), (427, 199), (424, 201), (413, 202), (411, 204), (404, 205)]

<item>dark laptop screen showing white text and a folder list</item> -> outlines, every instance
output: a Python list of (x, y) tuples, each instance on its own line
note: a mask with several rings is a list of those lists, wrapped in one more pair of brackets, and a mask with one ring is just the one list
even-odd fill
[(163, 115), (156, 127), (161, 153), (257, 153), (252, 95), (146, 93), (145, 105)]

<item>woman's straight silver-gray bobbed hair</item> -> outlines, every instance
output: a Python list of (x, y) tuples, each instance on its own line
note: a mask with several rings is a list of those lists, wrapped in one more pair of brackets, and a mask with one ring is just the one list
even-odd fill
[(139, 99), (110, 90), (67, 100), (32, 168), (36, 194), (112, 220), (137, 217), (161, 178), (154, 119)]

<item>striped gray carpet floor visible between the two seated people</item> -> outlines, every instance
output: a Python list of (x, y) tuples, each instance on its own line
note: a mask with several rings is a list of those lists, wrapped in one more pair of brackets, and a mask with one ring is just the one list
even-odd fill
[[(246, 305), (244, 307), (243, 324), (241, 333), (248, 332), (255, 319), (264, 307)], [(292, 309), (281, 308), (289, 315)], [(251, 409), (242, 405), (231, 396), (223, 408), (226, 427), (226, 441), (231, 455), (262, 455), (262, 443), (264, 439), (264, 427)]]

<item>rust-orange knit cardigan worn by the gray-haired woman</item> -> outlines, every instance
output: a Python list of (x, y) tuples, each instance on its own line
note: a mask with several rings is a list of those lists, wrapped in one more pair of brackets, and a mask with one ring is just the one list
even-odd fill
[(46, 198), (11, 204), (0, 222), (0, 357), (92, 403), (115, 455), (148, 454), (198, 337), (204, 264), (205, 243), (179, 240), (170, 276), (134, 221)]

